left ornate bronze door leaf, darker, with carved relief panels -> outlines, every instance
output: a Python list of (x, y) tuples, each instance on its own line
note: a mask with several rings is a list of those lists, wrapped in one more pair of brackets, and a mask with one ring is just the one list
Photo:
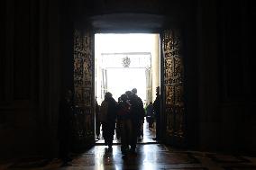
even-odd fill
[(95, 144), (95, 89), (92, 31), (74, 32), (74, 148)]

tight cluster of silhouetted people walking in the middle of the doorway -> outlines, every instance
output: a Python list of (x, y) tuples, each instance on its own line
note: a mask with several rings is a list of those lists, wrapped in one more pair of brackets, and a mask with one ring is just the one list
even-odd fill
[(102, 124), (103, 138), (108, 149), (112, 149), (116, 128), (117, 138), (121, 139), (123, 155), (128, 152), (135, 153), (137, 139), (143, 135), (144, 116), (142, 99), (137, 95), (136, 88), (122, 94), (118, 102), (114, 100), (111, 93), (105, 93), (105, 100), (101, 103), (98, 118)]

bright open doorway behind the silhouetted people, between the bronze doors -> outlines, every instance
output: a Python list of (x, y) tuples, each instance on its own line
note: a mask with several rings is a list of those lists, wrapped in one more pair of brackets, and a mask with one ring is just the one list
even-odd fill
[[(99, 105), (104, 100), (106, 92), (112, 93), (117, 102), (118, 97), (125, 91), (137, 88), (138, 96), (142, 98), (143, 106), (146, 108), (156, 98), (157, 86), (160, 86), (159, 34), (95, 34), (95, 94)], [(116, 130), (114, 143), (120, 143)], [(146, 117), (142, 131), (141, 143), (155, 142), (152, 140), (155, 137), (155, 126), (149, 128)], [(99, 139), (96, 134), (96, 144), (104, 144), (101, 127)]]

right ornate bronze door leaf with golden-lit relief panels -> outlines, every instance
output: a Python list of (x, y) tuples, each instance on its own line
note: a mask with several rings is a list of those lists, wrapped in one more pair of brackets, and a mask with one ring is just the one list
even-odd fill
[(161, 35), (162, 127), (165, 143), (182, 147), (186, 141), (186, 114), (184, 109), (184, 67), (181, 31), (166, 30)]

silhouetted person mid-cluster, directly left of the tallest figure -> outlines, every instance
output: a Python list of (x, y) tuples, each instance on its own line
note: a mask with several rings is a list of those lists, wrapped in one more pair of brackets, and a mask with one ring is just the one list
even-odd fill
[(129, 150), (129, 143), (132, 139), (132, 121), (130, 115), (131, 104), (126, 94), (122, 94), (117, 109), (117, 121), (120, 124), (121, 151), (126, 155)]

